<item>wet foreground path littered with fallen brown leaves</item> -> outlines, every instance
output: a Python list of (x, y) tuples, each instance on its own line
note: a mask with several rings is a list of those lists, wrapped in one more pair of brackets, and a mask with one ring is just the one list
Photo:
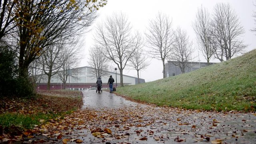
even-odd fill
[[(103, 92), (92, 92), (95, 100), (114, 99)], [(98, 98), (97, 98), (97, 97)], [(113, 101), (116, 102), (116, 101)], [(92, 103), (93, 102), (89, 102)], [(208, 112), (139, 104), (116, 108), (84, 108), (51, 119), (16, 136), (2, 136), (2, 142), (22, 143), (212, 143), (254, 144), (256, 114), (241, 112)]]

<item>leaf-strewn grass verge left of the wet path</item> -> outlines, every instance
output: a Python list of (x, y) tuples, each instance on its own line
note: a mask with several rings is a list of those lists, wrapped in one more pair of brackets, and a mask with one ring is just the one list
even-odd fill
[(0, 132), (17, 132), (80, 108), (82, 92), (41, 90), (36, 98), (2, 98), (0, 102)]

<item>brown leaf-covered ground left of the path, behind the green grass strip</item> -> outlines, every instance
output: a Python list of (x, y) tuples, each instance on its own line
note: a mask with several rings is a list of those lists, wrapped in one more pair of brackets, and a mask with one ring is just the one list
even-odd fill
[[(60, 93), (62, 93), (61, 96)], [(32, 99), (1, 98), (0, 114), (6, 112), (22, 114), (65, 112), (82, 106), (81, 92), (40, 90), (38, 94)]]

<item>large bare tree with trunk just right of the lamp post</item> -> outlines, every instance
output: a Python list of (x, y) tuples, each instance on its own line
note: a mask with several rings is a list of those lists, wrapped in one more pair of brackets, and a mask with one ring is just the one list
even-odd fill
[(131, 34), (132, 27), (126, 15), (119, 13), (108, 17), (104, 24), (98, 24), (95, 40), (101, 52), (112, 60), (120, 70), (120, 85), (123, 83), (123, 70), (138, 47), (138, 34)]

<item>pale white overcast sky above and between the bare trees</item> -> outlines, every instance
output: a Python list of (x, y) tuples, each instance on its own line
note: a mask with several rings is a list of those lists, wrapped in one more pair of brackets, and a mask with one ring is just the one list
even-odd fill
[[(198, 56), (199, 50), (197, 49), (196, 36), (192, 28), (192, 22), (195, 20), (197, 9), (202, 5), (212, 14), (215, 4), (220, 2), (229, 3), (238, 15), (241, 25), (244, 26), (244, 44), (249, 45), (245, 52), (255, 49), (256, 36), (250, 32), (250, 29), (256, 26), (252, 18), (253, 11), (256, 11), (256, 6), (253, 5), (253, 3), (256, 3), (256, 0), (108, 0), (108, 4), (98, 11), (99, 16), (94, 25), (90, 27), (90, 32), (83, 38), (84, 59), (82, 59), (80, 66), (88, 66), (88, 50), (94, 44), (92, 36), (95, 34), (96, 24), (104, 22), (106, 16), (111, 16), (113, 12), (126, 14), (133, 29), (139, 30), (142, 36), (146, 32), (149, 20), (154, 19), (158, 12), (166, 14), (172, 19), (172, 27), (174, 29), (180, 26), (180, 28), (187, 31), (195, 49), (194, 56)], [(201, 54), (199, 58), (201, 62), (206, 62)], [(198, 57), (193, 61), (198, 62)], [(211, 62), (219, 62), (219, 60), (213, 59)], [(141, 72), (141, 78), (145, 79), (146, 82), (161, 79), (163, 78), (162, 69), (162, 62), (152, 59), (150, 66)], [(135, 70), (124, 70), (124, 74), (137, 77)]]

